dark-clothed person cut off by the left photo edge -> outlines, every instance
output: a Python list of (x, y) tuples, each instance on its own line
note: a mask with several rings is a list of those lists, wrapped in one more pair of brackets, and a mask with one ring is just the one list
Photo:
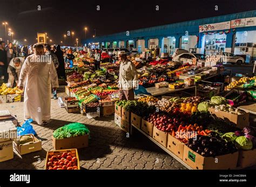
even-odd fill
[(4, 77), (4, 82), (8, 82), (8, 62), (7, 62), (7, 54), (5, 51), (5, 42), (0, 41), (0, 78)]

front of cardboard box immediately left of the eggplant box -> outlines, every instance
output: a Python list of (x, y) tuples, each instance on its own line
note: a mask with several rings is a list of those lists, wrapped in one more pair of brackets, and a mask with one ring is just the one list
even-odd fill
[(183, 159), (184, 146), (185, 144), (183, 142), (173, 137), (171, 133), (168, 133), (167, 149), (171, 150), (180, 159)]

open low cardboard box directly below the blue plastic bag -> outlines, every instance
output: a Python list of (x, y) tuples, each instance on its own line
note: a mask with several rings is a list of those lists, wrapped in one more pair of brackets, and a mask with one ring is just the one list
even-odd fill
[(23, 145), (18, 145), (18, 141), (17, 140), (14, 141), (14, 148), (17, 150), (17, 152), (20, 155), (36, 152), (36, 151), (42, 149), (42, 141), (41, 140), (38, 140), (33, 134), (26, 134), (26, 135), (31, 135), (34, 139), (34, 142), (28, 142)]

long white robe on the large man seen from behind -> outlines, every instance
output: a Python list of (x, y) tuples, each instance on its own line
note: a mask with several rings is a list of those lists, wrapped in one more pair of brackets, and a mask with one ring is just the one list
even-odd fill
[[(18, 86), (24, 87), (24, 116), (39, 125), (51, 118), (51, 88), (59, 87), (53, 62), (33, 62), (32, 54), (23, 63)], [(34, 56), (35, 57), (35, 56)]]

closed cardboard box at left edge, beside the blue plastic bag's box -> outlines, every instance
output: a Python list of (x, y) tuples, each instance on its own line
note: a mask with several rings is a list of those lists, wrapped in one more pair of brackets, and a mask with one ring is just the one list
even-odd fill
[(0, 142), (0, 162), (14, 158), (12, 140)]

